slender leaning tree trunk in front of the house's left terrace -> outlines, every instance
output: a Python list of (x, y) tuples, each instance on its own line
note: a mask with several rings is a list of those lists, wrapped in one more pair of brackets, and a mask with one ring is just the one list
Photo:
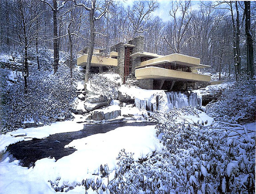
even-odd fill
[(84, 87), (86, 89), (86, 83), (89, 80), (89, 72), (91, 68), (91, 58), (94, 48), (94, 39), (95, 39), (95, 27), (94, 27), (94, 11), (95, 11), (96, 0), (91, 0), (91, 10), (89, 13), (89, 22), (90, 22), (90, 46), (88, 51), (86, 70), (85, 70), (85, 84)]

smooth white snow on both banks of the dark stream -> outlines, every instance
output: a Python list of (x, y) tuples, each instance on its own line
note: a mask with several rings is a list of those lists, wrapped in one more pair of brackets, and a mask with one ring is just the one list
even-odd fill
[[(71, 126), (74, 126), (72, 128)], [(80, 124), (75, 121), (54, 123), (51, 126), (27, 129), (26, 137), (43, 138), (47, 134), (78, 130)], [(20, 129), (19, 132), (22, 132)], [(12, 133), (12, 134), (17, 134)], [(23, 133), (24, 134), (24, 133)], [(2, 135), (1, 140), (9, 139), (8, 143), (21, 140), (11, 136), (10, 133)], [(8, 144), (0, 141), (4, 150)], [(75, 153), (55, 160), (54, 158), (43, 158), (37, 160), (34, 167), (25, 168), (19, 166), (17, 160), (11, 161), (7, 157), (0, 163), (0, 194), (40, 194), (55, 193), (51, 188), (51, 180), (59, 180), (59, 185), (76, 186), (83, 179), (90, 178), (98, 172), (100, 165), (108, 164), (109, 170), (116, 167), (116, 158), (123, 148), (127, 152), (133, 152), (134, 158), (138, 159), (155, 150), (161, 150), (162, 145), (155, 135), (155, 126), (121, 127), (103, 134), (91, 135), (72, 141), (65, 147), (76, 148)], [(2, 189), (3, 188), (3, 189)], [(81, 186), (68, 193), (84, 192)]]

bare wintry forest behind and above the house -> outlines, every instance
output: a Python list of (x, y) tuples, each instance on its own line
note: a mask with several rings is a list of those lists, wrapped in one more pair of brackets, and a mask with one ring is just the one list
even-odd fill
[(108, 53), (110, 46), (143, 35), (145, 51), (199, 57), (202, 64), (211, 66), (208, 71), (219, 73), (219, 80), (242, 71), (254, 75), (250, 58), (255, 52), (255, 1), (171, 1), (165, 9), (158, 1), (101, 0), (95, 1), (92, 11), (90, 4), (82, 0), (2, 0), (1, 49), (11, 52), (15, 47), (21, 53), (28, 77), (32, 51), (40, 70), (39, 50), (54, 49), (55, 73), (59, 51), (69, 53), (71, 66), (75, 66), (77, 51), (86, 46), (105, 48)]

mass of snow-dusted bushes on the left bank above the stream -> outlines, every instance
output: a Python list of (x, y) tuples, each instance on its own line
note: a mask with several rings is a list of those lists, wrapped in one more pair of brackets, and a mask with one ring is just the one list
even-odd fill
[[(5, 79), (1, 83), (6, 82), (6, 73), (1, 79)], [(24, 93), (23, 80), (1, 84), (1, 133), (22, 127), (28, 121), (50, 124), (72, 118), (70, 109), (75, 86), (71, 85), (67, 66), (59, 65), (55, 75), (35, 68), (30, 71), (27, 85), (27, 93)]]

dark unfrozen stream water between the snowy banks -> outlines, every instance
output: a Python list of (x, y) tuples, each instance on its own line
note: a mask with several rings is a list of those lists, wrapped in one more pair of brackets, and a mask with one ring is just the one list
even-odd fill
[(107, 133), (115, 128), (123, 126), (146, 126), (154, 123), (106, 123), (86, 124), (84, 129), (78, 132), (59, 133), (50, 135), (44, 139), (33, 139), (27, 142), (18, 142), (7, 148), (9, 154), (21, 161), (21, 166), (31, 167), (42, 158), (54, 157), (56, 160), (75, 152), (75, 148), (64, 148), (75, 139), (85, 138), (97, 133)]

